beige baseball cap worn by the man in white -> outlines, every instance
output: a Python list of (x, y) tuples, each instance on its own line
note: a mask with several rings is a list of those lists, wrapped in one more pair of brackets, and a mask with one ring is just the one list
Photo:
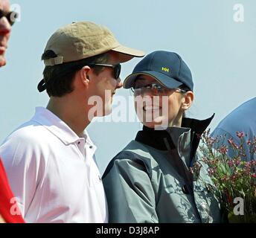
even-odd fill
[(143, 51), (121, 45), (109, 29), (93, 22), (74, 22), (60, 28), (48, 40), (45, 51), (57, 54), (55, 58), (44, 60), (46, 66), (82, 60), (107, 51), (121, 53), (121, 62), (144, 57)]

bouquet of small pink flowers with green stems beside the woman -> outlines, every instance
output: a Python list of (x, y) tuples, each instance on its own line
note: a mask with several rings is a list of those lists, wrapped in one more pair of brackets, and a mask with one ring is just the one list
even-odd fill
[(240, 144), (225, 137), (212, 138), (210, 130), (201, 135), (199, 150), (214, 183), (208, 189), (219, 199), (228, 222), (256, 222), (256, 161), (246, 160), (246, 151), (256, 153), (256, 136), (246, 141), (247, 135), (237, 132)]

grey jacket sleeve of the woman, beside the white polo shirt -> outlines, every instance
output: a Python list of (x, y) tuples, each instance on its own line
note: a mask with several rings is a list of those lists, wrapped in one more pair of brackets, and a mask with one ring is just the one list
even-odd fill
[(143, 161), (114, 159), (103, 176), (109, 222), (159, 222), (156, 196)]

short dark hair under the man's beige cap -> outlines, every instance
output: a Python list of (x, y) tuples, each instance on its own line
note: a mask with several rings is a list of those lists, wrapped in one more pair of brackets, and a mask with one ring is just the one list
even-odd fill
[[(57, 57), (57, 54), (55, 54), (54, 51), (45, 51), (45, 53), (42, 54), (42, 60), (48, 60), (54, 57)], [(77, 71), (85, 65), (92, 63), (106, 63), (108, 60), (109, 54), (104, 53), (83, 60), (66, 62), (61, 65), (45, 66), (42, 74), (45, 83), (47, 83), (46, 91), (49, 97), (62, 97), (65, 94), (71, 93), (71, 91), (74, 90), (73, 82)], [(102, 66), (94, 66), (95, 74), (99, 74), (102, 69)]]

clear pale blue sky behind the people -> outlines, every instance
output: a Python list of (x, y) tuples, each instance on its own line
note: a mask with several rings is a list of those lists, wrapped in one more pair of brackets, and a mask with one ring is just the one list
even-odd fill
[[(8, 65), (0, 69), (0, 141), (29, 120), (36, 106), (46, 106), (39, 94), (40, 61), (49, 36), (76, 21), (106, 25), (118, 40), (147, 53), (176, 51), (190, 66), (196, 99), (188, 116), (204, 119), (216, 114), (211, 129), (236, 106), (256, 96), (255, 0), (17, 0), (21, 21), (13, 26), (7, 50)], [(234, 4), (243, 4), (244, 22), (234, 22)], [(121, 77), (138, 60), (123, 65)], [(118, 95), (129, 96), (121, 89)], [(246, 116), (246, 115), (245, 115)], [(101, 172), (109, 160), (131, 141), (141, 125), (92, 123), (88, 130), (97, 145)]]

